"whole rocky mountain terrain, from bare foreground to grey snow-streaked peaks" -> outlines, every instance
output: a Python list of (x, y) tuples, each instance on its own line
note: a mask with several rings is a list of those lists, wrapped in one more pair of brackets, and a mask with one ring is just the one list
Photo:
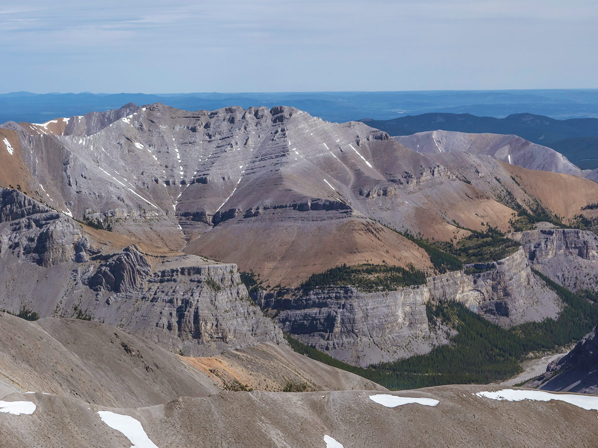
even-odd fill
[(448, 384), (593, 328), (594, 172), (521, 136), (389, 129), (162, 103), (1, 125), (2, 440), (472, 446), (525, 419), (523, 446), (591, 446), (576, 395)]

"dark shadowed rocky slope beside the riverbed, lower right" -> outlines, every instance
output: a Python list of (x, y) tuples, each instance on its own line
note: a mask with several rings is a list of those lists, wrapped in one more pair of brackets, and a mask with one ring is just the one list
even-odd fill
[(527, 382), (525, 386), (545, 391), (596, 394), (597, 367), (598, 336), (594, 327), (568, 354), (548, 364), (544, 375)]

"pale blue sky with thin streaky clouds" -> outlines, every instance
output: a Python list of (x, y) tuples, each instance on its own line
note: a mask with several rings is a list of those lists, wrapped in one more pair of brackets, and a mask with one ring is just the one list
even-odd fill
[(0, 2), (0, 92), (598, 87), (596, 0)]

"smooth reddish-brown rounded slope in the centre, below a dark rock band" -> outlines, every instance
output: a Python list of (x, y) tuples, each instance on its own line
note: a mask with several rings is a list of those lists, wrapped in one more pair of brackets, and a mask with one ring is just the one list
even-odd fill
[(379, 223), (358, 218), (323, 217), (321, 222), (239, 220), (216, 226), (192, 241), (185, 251), (216, 260), (235, 260), (241, 271), (254, 269), (271, 286), (298, 286), (314, 272), (343, 263), (386, 261), (431, 268), (428, 255), (411, 241)]

